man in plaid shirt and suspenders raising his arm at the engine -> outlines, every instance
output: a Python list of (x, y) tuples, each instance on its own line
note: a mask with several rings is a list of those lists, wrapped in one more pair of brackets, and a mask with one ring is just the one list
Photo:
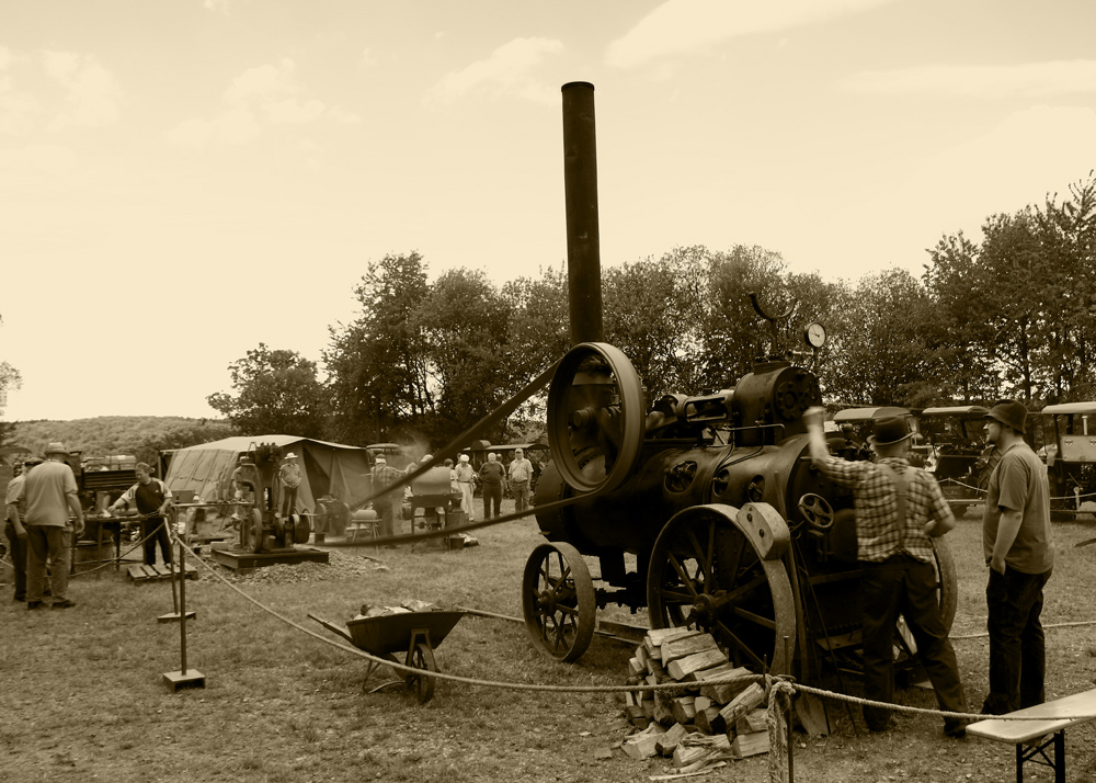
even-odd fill
[[(861, 579), (864, 616), (864, 696), (893, 702), (894, 627), (901, 614), (913, 633), (936, 701), (944, 712), (967, 712), (955, 649), (944, 626), (936, 597), (931, 536), (955, 527), (955, 517), (936, 480), (910, 466), (910, 438), (905, 418), (875, 423), (868, 438), (875, 462), (848, 462), (830, 454), (822, 431), (823, 408), (803, 415), (810, 436), (811, 461), (834, 484), (853, 490), (856, 504), (857, 558)], [(864, 720), (872, 731), (891, 726), (886, 707), (864, 706)], [(945, 718), (944, 734), (961, 738), (967, 722)]]

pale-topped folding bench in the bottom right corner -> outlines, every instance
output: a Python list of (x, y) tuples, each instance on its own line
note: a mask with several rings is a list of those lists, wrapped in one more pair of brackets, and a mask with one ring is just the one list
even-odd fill
[[(1011, 717), (1041, 719), (1001, 719)], [(1093, 719), (1096, 719), (1096, 689), (972, 723), (967, 727), (967, 734), (1015, 745), (1017, 783), (1024, 781), (1025, 761), (1051, 768), (1054, 770), (1054, 783), (1065, 783), (1065, 729)], [(1053, 760), (1047, 756), (1051, 744), (1054, 746)], [(1036, 757), (1041, 757), (1041, 760)]]

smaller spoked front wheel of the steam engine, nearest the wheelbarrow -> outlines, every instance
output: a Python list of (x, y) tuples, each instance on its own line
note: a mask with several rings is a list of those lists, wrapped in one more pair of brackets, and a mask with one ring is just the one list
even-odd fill
[(529, 555), (522, 579), (525, 627), (545, 655), (573, 662), (594, 637), (597, 603), (582, 555), (570, 544), (541, 544)]

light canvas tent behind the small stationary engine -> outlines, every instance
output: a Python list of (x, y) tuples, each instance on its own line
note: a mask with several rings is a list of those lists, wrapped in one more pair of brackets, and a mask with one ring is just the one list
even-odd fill
[(171, 456), (164, 481), (172, 492), (193, 490), (207, 502), (229, 501), (229, 485), (240, 454), (260, 443), (282, 446), (293, 452), (304, 476), (297, 489), (297, 512), (315, 511), (316, 499), (324, 495), (342, 500), (351, 509), (361, 508), (369, 497), (370, 458), (365, 449), (340, 443), (313, 441), (297, 435), (248, 435), (226, 438), (180, 449)]

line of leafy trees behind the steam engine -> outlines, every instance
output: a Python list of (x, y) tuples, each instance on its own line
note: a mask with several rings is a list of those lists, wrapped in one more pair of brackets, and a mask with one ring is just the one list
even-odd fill
[[(604, 339), (620, 348), (648, 399), (728, 388), (773, 350), (756, 293), (794, 307), (777, 350), (814, 363), (837, 406), (992, 402), (1031, 407), (1096, 396), (1096, 179), (1064, 197), (992, 215), (980, 241), (943, 236), (918, 277), (889, 269), (826, 282), (779, 253), (675, 248), (603, 270)], [(455, 269), (429, 282), (416, 252), (368, 264), (358, 310), (329, 327), (320, 363), (260, 344), (229, 366), (209, 405), (243, 432), (346, 443), (443, 443), (512, 397), (569, 348), (567, 276), (545, 269), (501, 287)], [(812, 356), (801, 332), (822, 322)], [(539, 434), (544, 395), (490, 439)]]

